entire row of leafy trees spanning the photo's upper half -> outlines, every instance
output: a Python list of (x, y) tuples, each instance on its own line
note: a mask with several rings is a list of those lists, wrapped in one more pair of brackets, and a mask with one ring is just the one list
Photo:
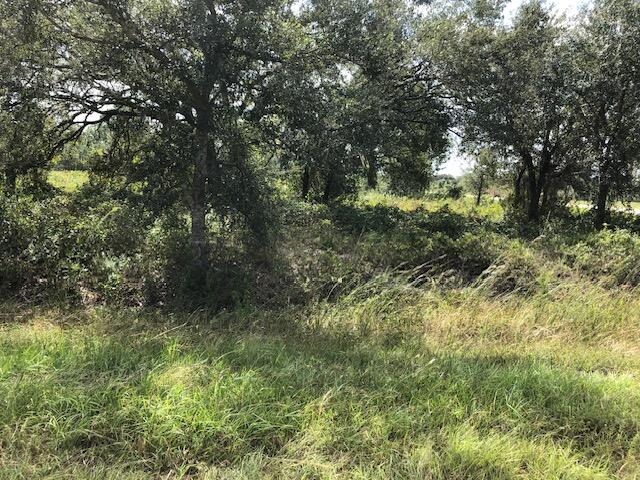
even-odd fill
[(56, 196), (47, 171), (83, 165), (78, 217), (136, 205), (132, 228), (188, 232), (206, 278), (219, 237), (268, 258), (283, 188), (331, 203), (383, 178), (421, 195), (453, 136), (478, 154), (478, 198), (499, 173), (526, 221), (573, 192), (600, 228), (638, 183), (640, 5), (596, 0), (575, 22), (503, 7), (2, 0), (3, 249), (38, 228), (8, 226)]

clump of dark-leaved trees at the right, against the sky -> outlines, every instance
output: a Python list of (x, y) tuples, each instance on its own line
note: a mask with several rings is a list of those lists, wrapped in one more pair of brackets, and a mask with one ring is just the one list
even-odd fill
[[(611, 200), (637, 188), (640, 5), (596, 1), (572, 24), (528, 2), (507, 26), (480, 6), (431, 35), (465, 142), (502, 152), (529, 220), (570, 187), (594, 200), (601, 227)], [(496, 168), (486, 160), (480, 170)]]

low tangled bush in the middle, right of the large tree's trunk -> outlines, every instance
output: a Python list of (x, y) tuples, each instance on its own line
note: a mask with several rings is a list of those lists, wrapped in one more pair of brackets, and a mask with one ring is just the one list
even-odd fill
[(493, 222), (446, 206), (406, 212), (380, 204), (337, 204), (318, 213), (309, 213), (314, 222), (298, 220), (301, 228), (284, 245), (293, 283), (311, 298), (337, 298), (390, 272), (403, 272), (415, 285), (468, 285), (508, 243), (492, 231)]

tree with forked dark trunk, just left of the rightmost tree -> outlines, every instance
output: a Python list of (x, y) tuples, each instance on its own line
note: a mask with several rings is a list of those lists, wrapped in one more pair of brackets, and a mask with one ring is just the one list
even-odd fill
[(510, 26), (493, 12), (447, 18), (430, 39), (465, 141), (520, 158), (516, 190), (526, 180), (527, 216), (537, 221), (554, 180), (574, 168), (563, 154), (573, 124), (566, 35), (538, 0), (525, 3)]

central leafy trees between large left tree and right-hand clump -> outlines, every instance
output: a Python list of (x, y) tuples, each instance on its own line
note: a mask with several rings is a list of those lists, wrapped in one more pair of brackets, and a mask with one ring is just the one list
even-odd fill
[(448, 146), (449, 118), (417, 48), (415, 14), (385, 0), (307, 7), (314, 54), (306, 73), (274, 88), (285, 92), (277, 102), (288, 105), (279, 114), (283, 142), (302, 166), (303, 197), (319, 173), (325, 199), (353, 190), (358, 175), (375, 188), (381, 171), (399, 188), (423, 190)]

